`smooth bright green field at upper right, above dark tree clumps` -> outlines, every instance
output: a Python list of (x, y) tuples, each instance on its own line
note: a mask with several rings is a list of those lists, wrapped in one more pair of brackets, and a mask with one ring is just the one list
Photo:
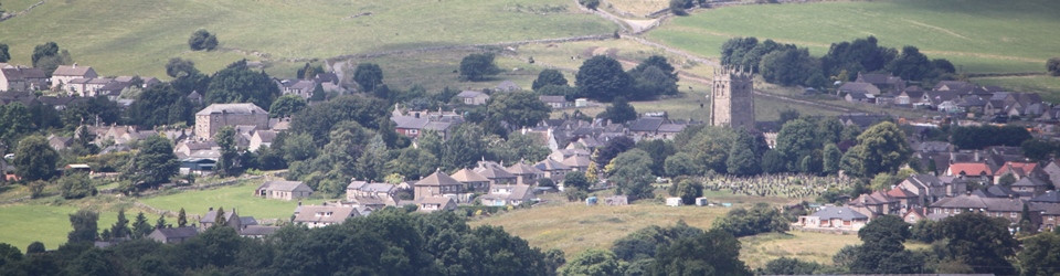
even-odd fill
[(718, 56), (733, 36), (773, 39), (815, 55), (834, 42), (875, 35), (887, 46), (915, 45), (967, 72), (1042, 72), (1057, 55), (1060, 2), (1049, 0), (895, 0), (719, 8), (675, 18), (648, 38)]

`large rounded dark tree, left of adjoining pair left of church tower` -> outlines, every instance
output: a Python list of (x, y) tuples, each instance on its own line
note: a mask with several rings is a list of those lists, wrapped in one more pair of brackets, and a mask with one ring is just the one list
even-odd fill
[(580, 96), (611, 102), (615, 97), (629, 96), (633, 77), (615, 59), (597, 55), (582, 63), (574, 75), (574, 84)]

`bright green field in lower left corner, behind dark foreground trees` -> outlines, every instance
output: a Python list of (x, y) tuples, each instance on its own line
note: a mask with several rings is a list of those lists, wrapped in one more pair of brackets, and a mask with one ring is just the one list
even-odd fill
[[(66, 243), (66, 234), (73, 231), (67, 214), (77, 212), (76, 206), (4, 205), (0, 206), (0, 243), (8, 243), (25, 251), (32, 242), (42, 242), (47, 250)], [(126, 213), (130, 221), (135, 213)], [(157, 215), (147, 214), (152, 224)], [(117, 212), (99, 214), (99, 230), (110, 227), (118, 220)]]

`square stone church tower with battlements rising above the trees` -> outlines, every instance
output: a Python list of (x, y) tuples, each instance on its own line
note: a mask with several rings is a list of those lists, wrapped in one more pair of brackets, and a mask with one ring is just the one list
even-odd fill
[(754, 128), (754, 74), (723, 67), (714, 71), (710, 92), (710, 125)]

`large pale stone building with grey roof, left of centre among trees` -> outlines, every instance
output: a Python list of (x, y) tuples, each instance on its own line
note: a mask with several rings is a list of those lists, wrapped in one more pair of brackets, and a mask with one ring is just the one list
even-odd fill
[(195, 113), (195, 137), (212, 139), (224, 126), (268, 129), (268, 112), (254, 104), (212, 104)]

